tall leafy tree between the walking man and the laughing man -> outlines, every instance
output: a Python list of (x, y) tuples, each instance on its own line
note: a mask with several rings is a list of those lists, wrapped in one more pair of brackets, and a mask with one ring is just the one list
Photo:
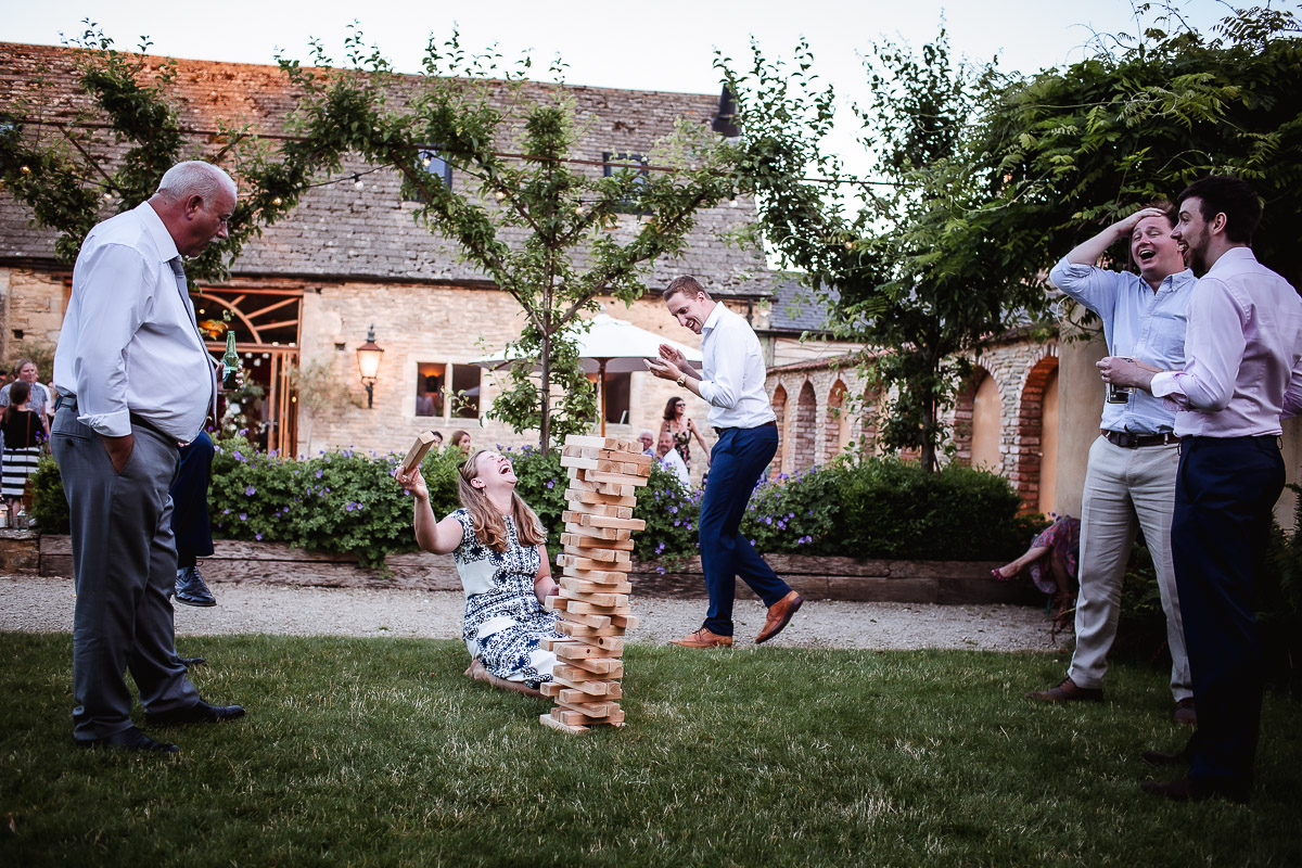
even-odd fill
[(993, 65), (954, 62), (944, 31), (921, 55), (875, 44), (872, 95), (855, 107), (874, 157), (866, 181), (846, 178), (823, 150), (835, 92), (811, 72), (809, 46), (799, 43), (790, 64), (766, 60), (758, 46), (753, 55), (745, 73), (729, 59), (717, 65), (738, 94), (741, 170), (759, 197), (758, 229), (836, 308), (838, 337), (888, 350), (863, 363), (884, 394), (879, 445), (917, 449), (935, 470), (944, 410), (969, 357), (1043, 298), (1036, 281), (1006, 271), (1025, 245), (984, 232), (991, 169), (971, 129), (997, 81)]

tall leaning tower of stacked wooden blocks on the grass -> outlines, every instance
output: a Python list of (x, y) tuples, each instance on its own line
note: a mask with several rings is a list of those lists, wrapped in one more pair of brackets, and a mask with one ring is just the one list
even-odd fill
[(561, 466), (569, 484), (562, 553), (556, 558), (560, 595), (547, 597), (548, 608), (560, 613), (556, 630), (564, 638), (544, 640), (557, 657), (553, 681), (543, 685), (543, 694), (556, 700), (542, 716), (552, 729), (586, 733), (596, 724), (624, 725), (624, 634), (637, 626), (629, 609), (631, 534), (646, 524), (633, 518), (633, 508), (654, 463), (637, 440), (565, 439)]

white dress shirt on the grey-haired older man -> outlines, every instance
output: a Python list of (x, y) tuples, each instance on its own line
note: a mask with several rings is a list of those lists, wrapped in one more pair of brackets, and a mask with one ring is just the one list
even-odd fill
[(132, 433), (132, 414), (180, 442), (203, 429), (212, 357), (172, 260), (176, 242), (147, 202), (91, 229), (77, 256), (55, 388), (96, 433)]

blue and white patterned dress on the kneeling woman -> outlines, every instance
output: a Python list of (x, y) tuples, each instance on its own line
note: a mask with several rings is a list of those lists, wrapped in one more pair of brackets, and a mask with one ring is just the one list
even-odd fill
[(461, 635), (470, 657), (478, 657), (493, 675), (538, 688), (552, 679), (556, 655), (540, 647), (556, 632), (556, 613), (534, 596), (542, 566), (536, 547), (523, 547), (512, 517), (506, 521), (506, 550), (497, 553), (475, 536), (469, 510), (452, 518), (461, 523), (461, 545), (452, 553), (466, 593)]

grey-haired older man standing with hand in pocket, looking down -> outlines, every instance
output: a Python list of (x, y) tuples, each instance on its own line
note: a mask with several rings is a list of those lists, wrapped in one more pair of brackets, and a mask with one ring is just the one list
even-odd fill
[(216, 380), (181, 256), (227, 237), (236, 186), (207, 163), (172, 167), (139, 207), (86, 236), (55, 353), (51, 448), (72, 523), (73, 737), (82, 746), (176, 752), (132, 722), (216, 722), (177, 660), (172, 500), (177, 444), (203, 428)]

